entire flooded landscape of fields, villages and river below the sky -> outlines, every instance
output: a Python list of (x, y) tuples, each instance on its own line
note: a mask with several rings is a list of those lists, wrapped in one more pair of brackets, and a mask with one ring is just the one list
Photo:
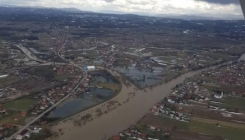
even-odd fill
[(0, 13), (1, 138), (244, 137), (244, 21)]

